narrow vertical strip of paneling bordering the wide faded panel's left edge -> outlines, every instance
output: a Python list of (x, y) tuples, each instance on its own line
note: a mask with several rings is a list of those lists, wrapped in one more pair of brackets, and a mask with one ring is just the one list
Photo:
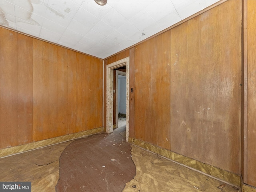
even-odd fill
[[(157, 111), (157, 138), (156, 143), (158, 146), (170, 150), (170, 44), (171, 44), (171, 31), (168, 31), (157, 37), (157, 69), (156, 69), (156, 111)], [(160, 86), (161, 85), (161, 86)]]

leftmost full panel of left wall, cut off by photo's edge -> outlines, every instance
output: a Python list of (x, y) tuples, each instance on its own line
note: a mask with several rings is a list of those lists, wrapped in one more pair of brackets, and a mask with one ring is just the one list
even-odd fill
[(0, 148), (32, 142), (33, 40), (0, 28)]

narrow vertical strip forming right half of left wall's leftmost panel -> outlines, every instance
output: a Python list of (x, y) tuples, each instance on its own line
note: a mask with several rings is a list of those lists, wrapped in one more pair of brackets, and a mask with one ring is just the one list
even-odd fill
[(18, 34), (18, 144), (33, 135), (33, 38)]

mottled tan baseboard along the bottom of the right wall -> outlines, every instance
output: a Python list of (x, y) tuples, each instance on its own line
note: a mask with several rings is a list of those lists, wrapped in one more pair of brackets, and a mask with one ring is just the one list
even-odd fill
[[(233, 186), (236, 186), (239, 188), (240, 186), (240, 176), (231, 172), (228, 172), (226, 170), (222, 170), (220, 168), (216, 168), (214, 166), (211, 166), (209, 164), (204, 164), (200, 161), (194, 160), (192, 158), (188, 158), (186, 156), (177, 154), (175, 152), (172, 152), (167, 149), (160, 148), (158, 146), (154, 146), (150, 143), (137, 140), (134, 138), (129, 137), (129, 143), (132, 143), (136, 146), (139, 146), (141, 148), (144, 148), (146, 150), (149, 150), (151, 152), (154, 152), (156, 154), (159, 154), (165, 158), (168, 158), (172, 161), (178, 162), (179, 164), (182, 164), (184, 166), (190, 167), (194, 170), (198, 170), (204, 174), (207, 174), (213, 178), (216, 178), (218, 180), (222, 180), (228, 184), (231, 184)], [(251, 192), (251, 191), (249, 191)], [(256, 191), (254, 191), (256, 192)]]

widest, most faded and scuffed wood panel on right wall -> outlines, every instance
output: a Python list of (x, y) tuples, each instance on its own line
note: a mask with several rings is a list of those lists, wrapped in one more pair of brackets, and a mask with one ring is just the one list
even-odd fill
[(237, 174), (241, 12), (228, 1), (173, 28), (170, 62), (172, 150)]

